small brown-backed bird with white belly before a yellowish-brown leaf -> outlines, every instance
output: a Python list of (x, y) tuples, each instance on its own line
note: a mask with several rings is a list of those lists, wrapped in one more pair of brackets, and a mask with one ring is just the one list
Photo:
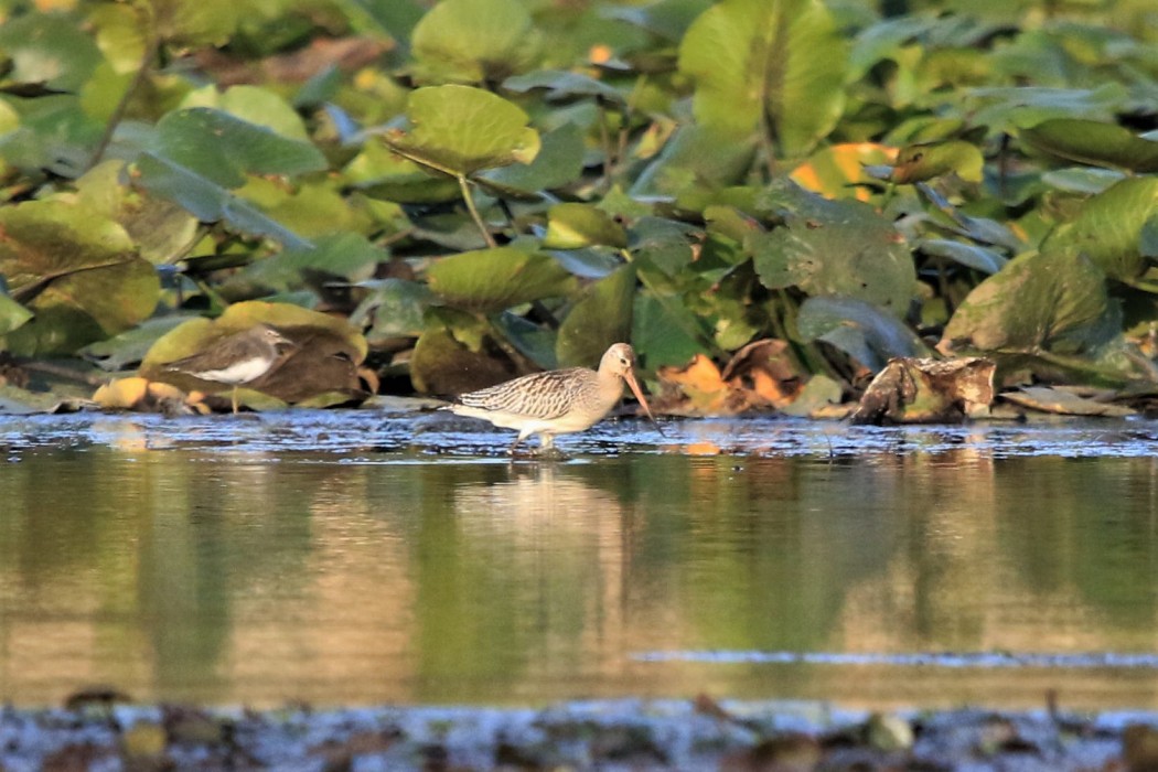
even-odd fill
[(221, 338), (204, 351), (164, 365), (171, 373), (233, 387), (233, 412), (237, 412), (237, 388), (252, 383), (273, 368), (287, 347), (296, 344), (266, 324)]

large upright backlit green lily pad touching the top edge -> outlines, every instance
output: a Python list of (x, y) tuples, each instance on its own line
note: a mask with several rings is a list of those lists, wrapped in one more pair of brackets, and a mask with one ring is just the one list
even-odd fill
[(680, 71), (696, 86), (696, 119), (732, 137), (760, 127), (789, 156), (804, 155), (836, 125), (846, 59), (819, 0), (723, 0), (680, 45)]

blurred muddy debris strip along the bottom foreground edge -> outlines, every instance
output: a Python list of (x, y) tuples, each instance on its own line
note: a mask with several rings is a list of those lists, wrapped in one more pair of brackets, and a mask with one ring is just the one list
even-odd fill
[(814, 703), (609, 700), (545, 709), (0, 711), (0, 770), (1152, 769), (1158, 714), (867, 714)]

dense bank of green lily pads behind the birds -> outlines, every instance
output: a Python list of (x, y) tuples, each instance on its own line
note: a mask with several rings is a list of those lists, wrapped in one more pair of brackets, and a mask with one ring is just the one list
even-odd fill
[(777, 337), (845, 382), (933, 345), (1156, 380), (1150, 0), (0, 14), (13, 355), (120, 370), (262, 299), (347, 317), (400, 391), (623, 338), (648, 373)]

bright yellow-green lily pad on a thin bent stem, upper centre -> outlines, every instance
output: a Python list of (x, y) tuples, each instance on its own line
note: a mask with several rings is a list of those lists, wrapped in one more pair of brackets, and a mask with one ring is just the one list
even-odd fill
[(405, 159), (452, 176), (529, 163), (538, 154), (538, 132), (527, 125), (527, 113), (479, 88), (420, 88), (410, 95), (406, 117), (410, 132), (388, 132), (386, 144)]

